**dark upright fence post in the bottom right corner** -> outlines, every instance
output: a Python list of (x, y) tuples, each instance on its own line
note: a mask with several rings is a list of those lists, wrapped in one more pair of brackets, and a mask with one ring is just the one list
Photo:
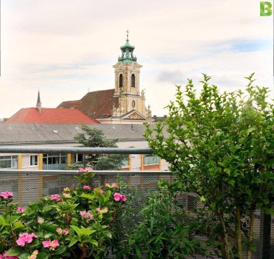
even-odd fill
[(260, 259), (270, 259), (271, 215), (260, 213)]

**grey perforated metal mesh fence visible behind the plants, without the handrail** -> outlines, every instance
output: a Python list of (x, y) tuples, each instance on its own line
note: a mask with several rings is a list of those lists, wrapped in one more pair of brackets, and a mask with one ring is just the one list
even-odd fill
[[(76, 171), (0, 171), (0, 192), (12, 191), (14, 193), (14, 201), (19, 206), (27, 206), (30, 201), (36, 201), (41, 197), (61, 193), (65, 187), (75, 188), (79, 186), (79, 182), (75, 179)], [(174, 176), (170, 172), (160, 171), (98, 171), (89, 185), (92, 188), (103, 186), (105, 183), (117, 182), (117, 175), (121, 178), (121, 182), (125, 186), (127, 192), (134, 193), (134, 202), (132, 206), (132, 217), (129, 217), (128, 225), (134, 225), (139, 220), (138, 211), (145, 205), (145, 198), (155, 190), (158, 180), (164, 179), (173, 182)], [(199, 201), (199, 197), (194, 193), (178, 192), (175, 199), (184, 206), (184, 210), (188, 215), (189, 221), (198, 220), (197, 210), (203, 210), (203, 206)], [(261, 222), (262, 214), (256, 211), (254, 223), (254, 240), (256, 251), (253, 252), (252, 258), (262, 258), (262, 250), (264, 249), (263, 225)], [(199, 221), (201, 223), (201, 221)], [(274, 258), (274, 217), (271, 218), (270, 226), (270, 247), (269, 258)], [(203, 243), (208, 236), (197, 236)], [(233, 239), (231, 240), (233, 244)], [(212, 250), (213, 252), (213, 250)], [(245, 251), (244, 251), (245, 254)], [(245, 258), (246, 256), (244, 256)], [(112, 257), (108, 257), (112, 258)], [(205, 258), (196, 255), (196, 258)], [(211, 258), (218, 258), (214, 256)]]

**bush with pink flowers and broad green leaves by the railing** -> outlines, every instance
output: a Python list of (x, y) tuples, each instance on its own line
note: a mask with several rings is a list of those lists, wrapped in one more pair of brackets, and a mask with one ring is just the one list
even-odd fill
[(127, 200), (119, 184), (88, 186), (91, 168), (79, 169), (81, 187), (64, 188), (26, 208), (0, 193), (0, 259), (99, 258), (112, 238), (110, 225)]

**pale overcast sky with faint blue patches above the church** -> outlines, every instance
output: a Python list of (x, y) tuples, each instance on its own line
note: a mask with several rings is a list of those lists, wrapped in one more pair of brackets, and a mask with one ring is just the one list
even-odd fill
[(201, 73), (221, 90), (252, 72), (273, 88), (273, 15), (260, 16), (260, 0), (2, 0), (0, 118), (36, 106), (38, 89), (55, 108), (114, 88), (127, 29), (152, 115)]

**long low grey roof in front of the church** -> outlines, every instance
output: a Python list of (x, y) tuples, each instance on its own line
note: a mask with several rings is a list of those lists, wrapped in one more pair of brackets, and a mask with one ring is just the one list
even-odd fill
[[(0, 123), (0, 145), (18, 143), (71, 143), (74, 136), (82, 133), (80, 124), (51, 123)], [(145, 125), (142, 124), (92, 124), (103, 130), (108, 139), (119, 141), (145, 140), (142, 136)], [(153, 127), (153, 125), (151, 125)]]

